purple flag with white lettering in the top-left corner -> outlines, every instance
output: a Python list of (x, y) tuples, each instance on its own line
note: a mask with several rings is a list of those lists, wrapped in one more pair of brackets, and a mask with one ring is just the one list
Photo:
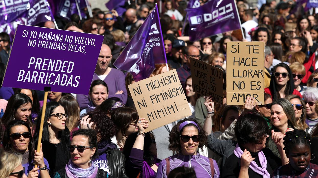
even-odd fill
[(0, 24), (10, 23), (24, 17), (29, 0), (0, 0)]

